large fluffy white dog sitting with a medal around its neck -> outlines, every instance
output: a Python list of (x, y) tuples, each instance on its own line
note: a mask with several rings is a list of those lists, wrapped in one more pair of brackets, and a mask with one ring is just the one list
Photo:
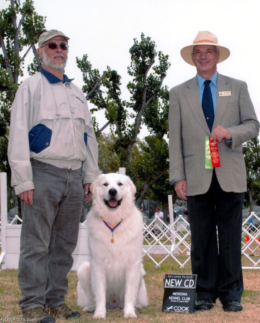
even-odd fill
[(78, 304), (105, 318), (120, 307), (136, 317), (135, 307), (148, 305), (142, 265), (142, 225), (134, 204), (136, 188), (128, 176), (101, 174), (91, 185), (93, 204), (87, 215), (90, 262), (78, 270)]

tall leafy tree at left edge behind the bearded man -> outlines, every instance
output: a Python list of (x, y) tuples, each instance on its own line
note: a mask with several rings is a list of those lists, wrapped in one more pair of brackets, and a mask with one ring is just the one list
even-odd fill
[(29, 73), (33, 74), (40, 66), (35, 43), (45, 31), (45, 17), (35, 13), (33, 4), (32, 0), (25, 0), (22, 5), (19, 0), (10, 0), (10, 5), (0, 11), (0, 171), (7, 173), (9, 196), (13, 195), (7, 161), (11, 105), (19, 85), (19, 76), (24, 75), (24, 59), (31, 50), (34, 64), (28, 67)]

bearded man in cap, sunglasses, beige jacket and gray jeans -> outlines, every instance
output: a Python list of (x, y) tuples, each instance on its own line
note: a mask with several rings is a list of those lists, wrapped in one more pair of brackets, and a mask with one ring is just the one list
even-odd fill
[(98, 145), (87, 101), (64, 74), (68, 40), (39, 38), (40, 72), (19, 86), (11, 110), (11, 185), (22, 202), (18, 281), (24, 319), (79, 317), (64, 302), (84, 203), (97, 178)]

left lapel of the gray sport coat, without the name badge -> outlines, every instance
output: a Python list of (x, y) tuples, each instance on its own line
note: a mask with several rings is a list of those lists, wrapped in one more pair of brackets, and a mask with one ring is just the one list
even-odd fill
[(210, 131), (205, 120), (204, 113), (202, 111), (202, 107), (200, 104), (199, 94), (198, 94), (198, 84), (197, 84), (197, 77), (191, 78), (187, 84), (185, 91), (185, 96), (188, 101), (188, 104), (194, 113), (195, 117), (197, 118), (198, 122), (200, 123), (201, 127), (205, 129), (210, 135)]

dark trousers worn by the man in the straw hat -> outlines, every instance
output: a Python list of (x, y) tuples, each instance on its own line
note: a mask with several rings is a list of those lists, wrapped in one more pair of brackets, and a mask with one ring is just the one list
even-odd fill
[(215, 169), (207, 193), (188, 196), (191, 266), (197, 274), (197, 301), (241, 300), (242, 206), (245, 193), (224, 192)]

